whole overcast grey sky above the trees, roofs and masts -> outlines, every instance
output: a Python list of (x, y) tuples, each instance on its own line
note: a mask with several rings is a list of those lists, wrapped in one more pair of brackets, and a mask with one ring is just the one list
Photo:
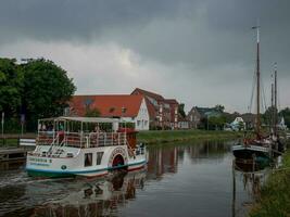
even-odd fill
[(278, 63), (279, 104), (290, 106), (289, 0), (1, 0), (0, 55), (45, 58), (77, 94), (136, 87), (191, 106), (247, 112), (261, 25), (267, 104)]

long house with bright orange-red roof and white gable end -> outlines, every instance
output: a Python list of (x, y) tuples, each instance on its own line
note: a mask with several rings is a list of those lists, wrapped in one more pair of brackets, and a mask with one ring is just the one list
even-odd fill
[(149, 130), (149, 110), (143, 95), (104, 94), (74, 95), (67, 115), (85, 116), (98, 110), (101, 117), (119, 117), (134, 123), (137, 130)]

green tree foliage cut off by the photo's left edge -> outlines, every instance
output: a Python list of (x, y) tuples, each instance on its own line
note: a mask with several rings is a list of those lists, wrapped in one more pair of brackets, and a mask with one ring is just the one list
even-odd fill
[(0, 59), (0, 111), (12, 116), (20, 110), (23, 74), (14, 59)]

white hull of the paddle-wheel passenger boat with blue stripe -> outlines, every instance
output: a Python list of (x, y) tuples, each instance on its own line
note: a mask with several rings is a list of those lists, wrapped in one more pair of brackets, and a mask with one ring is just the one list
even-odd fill
[[(46, 150), (42, 146), (42, 150)], [(66, 148), (63, 148), (66, 152)], [(103, 146), (91, 149), (70, 150), (75, 153), (74, 157), (53, 157), (27, 154), (26, 171), (34, 177), (99, 177), (108, 175), (115, 169), (137, 170), (146, 167), (147, 152), (143, 148), (138, 155), (130, 155), (126, 145)], [(98, 162), (97, 153), (103, 153), (102, 158)], [(87, 155), (90, 155), (89, 165)], [(117, 162), (116, 159), (122, 159)]]

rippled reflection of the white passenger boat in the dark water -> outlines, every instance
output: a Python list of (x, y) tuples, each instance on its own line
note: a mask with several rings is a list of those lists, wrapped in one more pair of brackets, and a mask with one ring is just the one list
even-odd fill
[[(136, 197), (146, 171), (113, 175), (113, 178), (76, 183), (67, 195), (35, 209), (35, 216), (110, 216), (117, 207)], [(80, 180), (78, 180), (79, 182)], [(70, 183), (72, 184), (72, 183)]]

